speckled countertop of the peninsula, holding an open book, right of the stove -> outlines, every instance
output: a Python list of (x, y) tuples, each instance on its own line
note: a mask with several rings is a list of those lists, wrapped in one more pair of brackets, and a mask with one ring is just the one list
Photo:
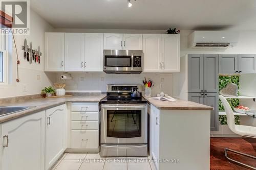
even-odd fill
[(178, 98), (175, 98), (177, 101), (168, 102), (160, 101), (155, 99), (150, 99), (143, 96), (148, 103), (154, 105), (156, 108), (161, 110), (214, 110), (213, 107), (202, 105), (195, 102), (185, 101)]

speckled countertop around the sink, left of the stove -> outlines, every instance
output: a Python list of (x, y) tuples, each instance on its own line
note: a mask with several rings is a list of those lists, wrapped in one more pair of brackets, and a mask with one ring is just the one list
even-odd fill
[(88, 93), (83, 95), (73, 95), (65, 98), (40, 98), (27, 100), (25, 102), (3, 103), (0, 106), (28, 106), (30, 108), (9, 115), (0, 116), (0, 123), (6, 122), (14, 118), (25, 116), (27, 114), (32, 114), (42, 110), (46, 110), (64, 104), (66, 102), (100, 102), (103, 98), (105, 98), (105, 96), (106, 94), (102, 93)]

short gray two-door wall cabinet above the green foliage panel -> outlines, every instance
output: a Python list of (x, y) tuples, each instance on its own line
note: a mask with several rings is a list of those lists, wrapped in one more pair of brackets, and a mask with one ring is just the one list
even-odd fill
[(256, 72), (256, 55), (220, 55), (220, 73), (255, 73)]

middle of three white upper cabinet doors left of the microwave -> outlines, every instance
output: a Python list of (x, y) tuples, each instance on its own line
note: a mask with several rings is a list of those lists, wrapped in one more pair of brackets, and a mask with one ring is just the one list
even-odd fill
[(82, 71), (84, 33), (65, 33), (65, 71)]

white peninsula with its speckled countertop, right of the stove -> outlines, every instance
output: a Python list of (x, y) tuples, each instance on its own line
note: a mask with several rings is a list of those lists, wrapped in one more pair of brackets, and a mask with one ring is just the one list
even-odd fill
[(148, 101), (149, 145), (156, 169), (210, 168), (212, 107), (177, 99)]

